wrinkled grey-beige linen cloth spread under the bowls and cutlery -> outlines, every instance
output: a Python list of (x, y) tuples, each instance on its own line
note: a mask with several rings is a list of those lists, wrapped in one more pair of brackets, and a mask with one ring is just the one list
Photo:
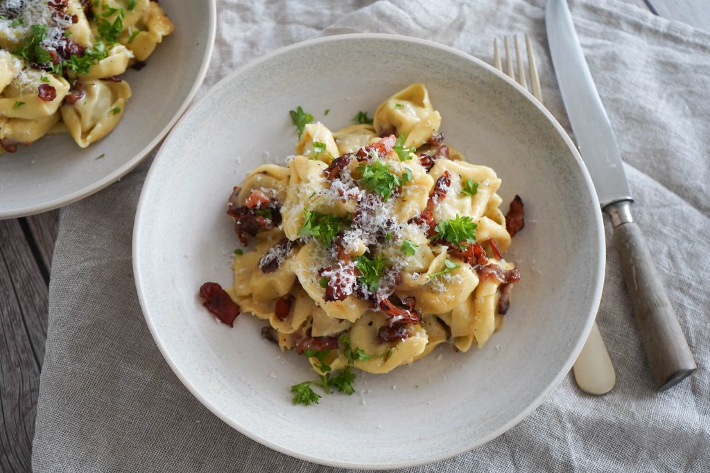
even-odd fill
[[(569, 130), (542, 0), (222, 0), (217, 9), (217, 44), (201, 93), (253, 57), (318, 35), (399, 33), (491, 62), (494, 35), (528, 32), (545, 104)], [(655, 392), (608, 238), (597, 319), (617, 369), (616, 388), (586, 396), (568, 376), (508, 433), (464, 455), (401, 471), (706, 471), (710, 465), (710, 35), (609, 0), (574, 1), (572, 16), (626, 161), (635, 216), (698, 372)], [(249, 440), (202, 406), (163, 360), (131, 269), (133, 215), (148, 165), (62, 211), (33, 468), (344, 471)]]

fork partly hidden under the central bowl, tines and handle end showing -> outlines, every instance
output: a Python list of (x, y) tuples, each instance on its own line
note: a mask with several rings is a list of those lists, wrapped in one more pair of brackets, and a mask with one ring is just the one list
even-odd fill
[[(530, 45), (530, 36), (525, 33), (525, 49), (528, 51), (528, 74), (530, 76), (530, 89), (528, 89), (528, 81), (525, 79), (525, 67), (523, 67), (523, 57), (520, 55), (520, 45), (518, 44), (518, 35), (513, 35), (513, 48), (515, 50), (515, 63), (518, 73), (515, 74), (513, 68), (513, 55), (510, 53), (510, 42), (508, 36), (503, 37), (503, 49), (506, 52), (506, 69), (503, 69), (501, 55), (498, 52), (498, 38), (493, 38), (493, 67), (496, 67), (501, 72), (508, 74), (510, 79), (518, 82), (523, 89), (530, 91), (537, 101), (542, 104), (542, 91), (540, 89), (540, 77), (537, 74), (537, 65), (535, 64), (535, 55), (532, 54), (532, 45)], [(574, 379), (577, 381), (579, 389), (587, 394), (601, 395), (611, 391), (616, 383), (616, 372), (611, 364), (611, 357), (606, 350), (604, 340), (599, 333), (599, 327), (594, 321), (591, 327), (589, 337), (584, 343), (584, 347), (574, 362), (572, 368)]]

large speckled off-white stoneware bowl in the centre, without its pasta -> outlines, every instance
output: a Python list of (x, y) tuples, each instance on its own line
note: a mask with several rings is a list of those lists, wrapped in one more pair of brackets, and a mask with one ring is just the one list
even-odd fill
[[(301, 105), (337, 129), (412, 82), (429, 88), (447, 142), (496, 169), (503, 210), (515, 194), (523, 197), (528, 223), (506, 255), (523, 280), (505, 327), (482, 350), (444, 345), (390, 374), (359, 373), (353, 396), (293, 406), (289, 386), (314, 377), (306, 360), (262, 340), (251, 315), (239, 316), (234, 328), (215, 323), (197, 297), (206, 281), (231, 286), (237, 240), (226, 200), (251, 169), (293, 153), (290, 109)], [(581, 350), (599, 304), (603, 262), (599, 203), (555, 118), (484, 62), (391, 35), (299, 43), (219, 82), (165, 140), (133, 234), (146, 321), (197, 399), (280, 452), (376, 469), (465, 452), (527, 416)]]

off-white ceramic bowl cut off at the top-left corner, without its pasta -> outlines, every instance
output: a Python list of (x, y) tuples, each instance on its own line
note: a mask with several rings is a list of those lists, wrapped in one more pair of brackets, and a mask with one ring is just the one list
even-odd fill
[(217, 14), (214, 0), (160, 5), (175, 31), (155, 48), (146, 67), (122, 76), (133, 96), (119, 126), (84, 150), (70, 135), (59, 135), (0, 155), (0, 218), (48, 211), (107, 187), (136, 167), (175, 125), (207, 72)]

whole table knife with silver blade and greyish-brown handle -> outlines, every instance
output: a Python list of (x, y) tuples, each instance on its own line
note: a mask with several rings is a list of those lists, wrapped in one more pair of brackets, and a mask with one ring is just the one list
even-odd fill
[(626, 287), (657, 388), (677, 384), (697, 366), (665, 287), (635, 223), (633, 199), (611, 123), (596, 91), (574, 30), (567, 0), (548, 0), (547, 41), (579, 152), (589, 170), (601, 209), (611, 218)]

